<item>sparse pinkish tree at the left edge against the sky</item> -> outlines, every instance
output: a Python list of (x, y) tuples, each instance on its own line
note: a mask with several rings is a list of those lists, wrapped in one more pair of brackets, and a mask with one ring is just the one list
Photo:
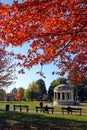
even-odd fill
[(15, 81), (15, 65), (3, 47), (0, 48), (0, 88), (10, 86)]

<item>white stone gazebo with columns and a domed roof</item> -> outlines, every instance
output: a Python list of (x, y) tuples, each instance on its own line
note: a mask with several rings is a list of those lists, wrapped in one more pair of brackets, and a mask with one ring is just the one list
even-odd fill
[(61, 84), (54, 88), (54, 105), (74, 105), (73, 87)]

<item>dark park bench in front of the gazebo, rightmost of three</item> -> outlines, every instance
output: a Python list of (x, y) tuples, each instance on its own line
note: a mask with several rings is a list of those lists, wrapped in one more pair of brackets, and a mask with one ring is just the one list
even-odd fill
[(79, 111), (79, 114), (81, 115), (82, 113), (82, 108), (73, 108), (73, 107), (62, 107), (62, 114), (64, 114), (64, 112), (67, 112), (68, 114), (72, 112), (78, 112)]

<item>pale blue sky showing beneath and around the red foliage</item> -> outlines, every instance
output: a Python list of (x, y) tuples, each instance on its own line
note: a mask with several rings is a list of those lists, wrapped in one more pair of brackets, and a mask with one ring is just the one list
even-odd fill
[[(19, 2), (21, 2), (22, 0), (19, 0)], [(4, 4), (12, 4), (13, 0), (0, 0), (1, 3)], [(15, 53), (26, 53), (27, 51), (27, 44), (25, 43), (25, 45), (23, 45), (22, 48), (19, 47), (15, 47), (15, 48), (9, 48), (9, 51), (14, 51)], [(58, 72), (58, 68), (55, 67), (53, 64), (49, 64), (49, 65), (45, 65), (43, 67), (43, 72), (46, 76), (46, 78), (41, 77), (40, 75), (36, 74), (36, 72), (40, 71), (41, 66), (37, 65), (35, 67), (33, 67), (30, 71), (28, 71), (27, 69), (25, 69), (25, 74), (18, 74), (18, 72), (16, 72), (16, 76), (17, 76), (17, 80), (15, 80), (15, 84), (12, 84), (11, 86), (9, 86), (8, 89), (6, 89), (6, 92), (11, 92), (11, 90), (13, 88), (19, 88), (19, 87), (23, 87), (24, 89), (28, 88), (28, 85), (30, 83), (32, 83), (33, 81), (37, 81), (38, 79), (43, 79), (45, 84), (46, 84), (46, 89), (48, 90), (50, 83), (53, 80), (56, 80), (57, 78), (59, 78), (59, 75), (52, 75), (52, 71), (56, 71)]]

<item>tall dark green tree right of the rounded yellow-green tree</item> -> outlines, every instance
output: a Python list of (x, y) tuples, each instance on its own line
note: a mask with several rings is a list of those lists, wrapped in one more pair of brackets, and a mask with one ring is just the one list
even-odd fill
[(44, 97), (46, 97), (47, 95), (45, 82), (42, 79), (39, 79), (36, 81), (36, 83), (39, 86), (39, 96), (40, 96), (39, 98), (44, 99)]

